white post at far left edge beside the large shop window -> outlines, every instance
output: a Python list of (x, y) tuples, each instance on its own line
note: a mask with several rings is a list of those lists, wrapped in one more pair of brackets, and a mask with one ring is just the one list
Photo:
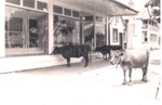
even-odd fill
[(0, 57), (5, 56), (5, 30), (4, 30), (4, 17), (5, 17), (5, 0), (2, 0), (0, 3), (0, 14), (1, 14), (1, 19), (0, 19)]

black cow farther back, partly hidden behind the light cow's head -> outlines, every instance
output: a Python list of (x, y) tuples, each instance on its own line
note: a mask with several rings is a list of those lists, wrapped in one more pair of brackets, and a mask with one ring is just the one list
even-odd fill
[(102, 45), (102, 47), (97, 47), (95, 49), (95, 51), (100, 52), (103, 54), (103, 57), (105, 57), (105, 60), (107, 60), (107, 54), (109, 54), (110, 56), (110, 50), (122, 50), (121, 45)]

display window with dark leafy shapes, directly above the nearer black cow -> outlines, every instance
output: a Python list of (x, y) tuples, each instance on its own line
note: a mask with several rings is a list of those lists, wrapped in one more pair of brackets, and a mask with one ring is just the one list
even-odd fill
[(62, 16), (54, 16), (54, 43), (63, 44), (80, 44), (80, 23)]

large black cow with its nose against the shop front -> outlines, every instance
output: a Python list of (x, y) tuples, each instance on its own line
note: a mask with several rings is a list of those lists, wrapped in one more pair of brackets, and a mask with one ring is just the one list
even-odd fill
[(65, 45), (65, 47), (56, 47), (53, 51), (53, 54), (62, 54), (64, 58), (67, 60), (67, 66), (70, 66), (70, 57), (81, 57), (83, 56), (85, 60), (85, 65), (89, 65), (89, 53), (91, 51), (90, 45)]

